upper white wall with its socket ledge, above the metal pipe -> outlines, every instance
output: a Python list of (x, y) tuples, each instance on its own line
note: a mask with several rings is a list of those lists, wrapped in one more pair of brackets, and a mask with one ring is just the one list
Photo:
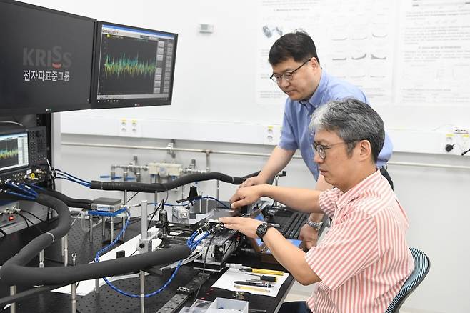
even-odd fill
[[(141, 136), (146, 138), (169, 138), (162, 129), (171, 127), (154, 129), (152, 125), (178, 121), (204, 132), (203, 136), (194, 135), (199, 140), (262, 144), (266, 125), (281, 124), (283, 103), (259, 105), (255, 101), (256, 62), (262, 61), (256, 54), (256, 34), (260, 31), (256, 28), (257, 1), (137, 0), (131, 6), (126, 1), (110, 0), (28, 2), (179, 34), (171, 106), (67, 112), (63, 116), (64, 132), (117, 134), (120, 119), (133, 118), (139, 119)], [(199, 23), (214, 24), (214, 33), (199, 33)], [(384, 119), (395, 151), (447, 154), (444, 146), (450, 129), (470, 129), (470, 104), (391, 103), (374, 108)], [(88, 119), (99, 120), (104, 126), (94, 123), (82, 127)], [(237, 129), (245, 128), (249, 131), (237, 133)], [(194, 139), (188, 138), (191, 134), (186, 127), (173, 127), (171, 131), (174, 138)], [(465, 146), (470, 147), (468, 136), (466, 141)], [(456, 148), (450, 154), (458, 153)]]

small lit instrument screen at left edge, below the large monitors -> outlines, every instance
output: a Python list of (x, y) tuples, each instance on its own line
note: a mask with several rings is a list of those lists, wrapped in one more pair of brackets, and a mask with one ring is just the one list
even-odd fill
[(0, 134), (0, 172), (28, 166), (28, 133)]

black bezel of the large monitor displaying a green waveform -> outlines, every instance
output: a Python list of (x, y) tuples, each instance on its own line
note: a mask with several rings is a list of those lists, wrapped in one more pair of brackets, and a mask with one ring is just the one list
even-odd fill
[[(103, 103), (98, 102), (98, 80), (99, 80), (99, 62), (101, 54), (101, 29), (103, 25), (125, 27), (129, 29), (136, 29), (139, 31), (152, 31), (161, 34), (168, 34), (174, 36), (174, 46), (173, 46), (173, 66), (171, 68), (171, 88), (169, 90), (169, 99), (159, 99), (159, 98), (144, 98), (139, 99), (139, 103), (135, 103), (135, 99), (123, 99), (119, 103)], [(173, 86), (174, 86), (174, 71), (176, 68), (176, 49), (178, 44), (178, 34), (171, 33), (169, 31), (159, 31), (156, 29), (146, 29), (138, 26), (116, 24), (107, 21), (96, 21), (95, 27), (95, 51), (94, 51), (94, 74), (93, 74), (93, 86), (91, 88), (91, 109), (116, 109), (116, 108), (130, 108), (130, 107), (141, 107), (141, 106), (168, 106), (171, 105), (173, 100)]]

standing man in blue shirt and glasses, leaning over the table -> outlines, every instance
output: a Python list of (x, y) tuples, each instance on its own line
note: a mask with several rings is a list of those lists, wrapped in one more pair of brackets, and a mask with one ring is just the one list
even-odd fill
[[(314, 151), (311, 148), (314, 134), (308, 127), (311, 114), (332, 100), (354, 98), (368, 103), (366, 96), (356, 86), (336, 79), (321, 69), (314, 41), (304, 31), (285, 34), (277, 39), (269, 51), (269, 64), (273, 69), (271, 79), (289, 96), (284, 109), (281, 140), (258, 176), (246, 179), (240, 187), (269, 182), (300, 149), (302, 159), (316, 179), (316, 189), (329, 189), (331, 184), (325, 182), (314, 162)], [(385, 136), (384, 148), (377, 160), (379, 169), (390, 159), (391, 152), (391, 141)], [(389, 179), (385, 169), (381, 169), (381, 172), (385, 172), (384, 176)], [(309, 222), (301, 229), (300, 238), (308, 249), (316, 244), (322, 217), (323, 214), (311, 214)]]

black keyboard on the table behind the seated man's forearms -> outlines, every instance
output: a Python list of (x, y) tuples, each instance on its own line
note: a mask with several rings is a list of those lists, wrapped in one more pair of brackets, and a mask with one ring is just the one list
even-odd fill
[(309, 218), (308, 213), (291, 211), (290, 209), (270, 210), (273, 215), (269, 223), (279, 224), (279, 232), (287, 239), (299, 239), (300, 229)]

